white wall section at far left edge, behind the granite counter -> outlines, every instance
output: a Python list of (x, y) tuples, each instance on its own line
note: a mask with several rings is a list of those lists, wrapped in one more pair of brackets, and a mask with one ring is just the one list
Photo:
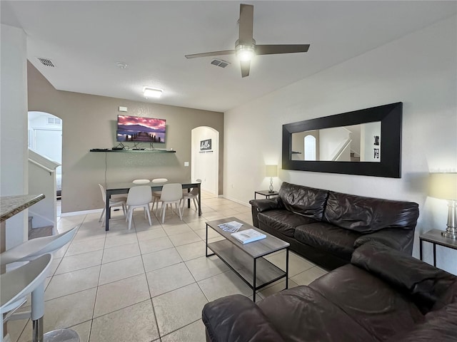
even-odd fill
[[(28, 193), (26, 62), (26, 34), (1, 24), (1, 196)], [(6, 220), (6, 249), (27, 237), (25, 210)]]

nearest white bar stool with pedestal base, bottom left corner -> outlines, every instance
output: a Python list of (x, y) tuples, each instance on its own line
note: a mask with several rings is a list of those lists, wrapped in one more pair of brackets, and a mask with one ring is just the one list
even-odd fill
[[(43, 254), (18, 269), (0, 275), (0, 336), (3, 341), (3, 326), (7, 321), (31, 318), (32, 342), (79, 342), (79, 336), (72, 329), (59, 329), (43, 333), (44, 283), (51, 268), (51, 254)], [(17, 314), (14, 311), (31, 294), (31, 310)]]

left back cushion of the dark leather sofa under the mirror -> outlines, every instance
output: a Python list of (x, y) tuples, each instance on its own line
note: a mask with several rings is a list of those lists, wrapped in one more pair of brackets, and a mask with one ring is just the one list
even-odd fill
[(291, 212), (321, 221), (328, 196), (327, 190), (283, 182), (279, 197)]

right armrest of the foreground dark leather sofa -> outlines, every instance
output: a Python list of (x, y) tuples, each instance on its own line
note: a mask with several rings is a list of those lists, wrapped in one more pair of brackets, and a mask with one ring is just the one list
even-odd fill
[(411, 297), (426, 314), (456, 281), (456, 276), (378, 242), (358, 247), (351, 264), (378, 276)]

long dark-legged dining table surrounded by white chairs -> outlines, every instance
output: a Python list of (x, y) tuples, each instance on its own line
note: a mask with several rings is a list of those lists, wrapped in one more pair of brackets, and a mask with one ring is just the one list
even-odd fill
[[(199, 216), (201, 216), (201, 183), (200, 182), (192, 182), (191, 180), (168, 180), (167, 182), (149, 182), (147, 184), (135, 184), (133, 182), (111, 182), (106, 183), (105, 191), (106, 191), (106, 215), (105, 215), (105, 230), (109, 231), (109, 219), (111, 218), (111, 208), (109, 207), (109, 199), (111, 195), (120, 195), (120, 194), (128, 194), (131, 187), (138, 187), (142, 185), (149, 185), (151, 186), (151, 191), (161, 191), (162, 187), (167, 183), (180, 183), (183, 189), (187, 189), (190, 192), (194, 187), (199, 189)], [(187, 207), (191, 207), (190, 199), (187, 200)]]

